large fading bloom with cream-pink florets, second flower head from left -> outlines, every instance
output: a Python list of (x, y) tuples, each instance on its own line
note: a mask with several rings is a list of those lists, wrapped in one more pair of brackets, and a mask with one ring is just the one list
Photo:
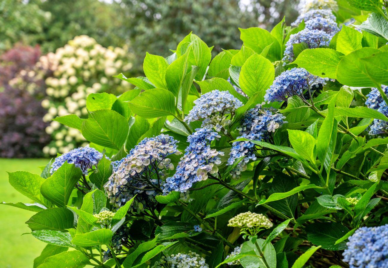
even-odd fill
[(111, 204), (121, 207), (135, 194), (133, 208), (144, 210), (147, 202), (155, 202), (154, 196), (161, 191), (162, 178), (167, 170), (173, 170), (168, 155), (179, 155), (173, 137), (159, 136), (143, 139), (129, 154), (114, 163), (114, 172), (104, 186)]

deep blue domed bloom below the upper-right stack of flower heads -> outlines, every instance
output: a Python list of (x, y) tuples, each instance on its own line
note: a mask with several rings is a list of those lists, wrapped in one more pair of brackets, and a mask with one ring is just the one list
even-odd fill
[(298, 95), (303, 97), (304, 91), (308, 89), (319, 88), (320, 85), (326, 84), (328, 78), (322, 78), (319, 76), (314, 76), (307, 72), (303, 68), (293, 68), (291, 70), (286, 70), (277, 76), (270, 86), (267, 89), (264, 100), (268, 103), (272, 101), (287, 101), (291, 96)]

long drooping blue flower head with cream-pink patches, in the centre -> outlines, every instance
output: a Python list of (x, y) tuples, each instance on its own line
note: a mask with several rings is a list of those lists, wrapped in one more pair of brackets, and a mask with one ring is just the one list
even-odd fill
[(217, 132), (211, 129), (196, 129), (196, 132), (187, 137), (189, 146), (185, 155), (180, 159), (173, 177), (166, 179), (163, 185), (163, 194), (171, 191), (186, 192), (192, 185), (208, 179), (208, 174), (218, 172), (217, 165), (221, 164), (220, 156), (223, 152), (210, 148), (211, 141), (220, 138)]

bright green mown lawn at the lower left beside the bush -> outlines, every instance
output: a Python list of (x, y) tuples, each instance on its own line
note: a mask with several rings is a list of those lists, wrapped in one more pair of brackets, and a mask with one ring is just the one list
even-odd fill
[[(0, 158), (0, 202), (24, 202), (30, 200), (17, 192), (8, 183), (8, 172), (24, 170), (40, 174), (38, 166), (44, 166), (46, 159), (3, 159)], [(24, 223), (34, 212), (0, 205), (0, 267), (1, 268), (31, 268), (34, 259), (40, 255), (45, 243), (38, 241)]]

